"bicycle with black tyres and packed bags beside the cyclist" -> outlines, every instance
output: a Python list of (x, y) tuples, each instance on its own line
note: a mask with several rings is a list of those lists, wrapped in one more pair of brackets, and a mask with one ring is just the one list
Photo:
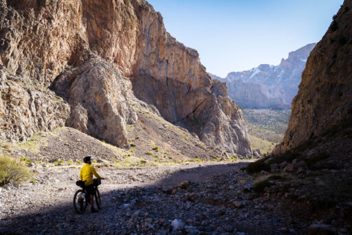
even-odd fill
[[(99, 178), (94, 178), (94, 198), (96, 198), (96, 207), (100, 210), (102, 206), (102, 202), (100, 199), (100, 193), (98, 190), (98, 185), (101, 184), (101, 181)], [(87, 190), (85, 189), (85, 181), (76, 181), (76, 185), (79, 187), (82, 187), (81, 190), (77, 190), (76, 193), (74, 194), (74, 210), (78, 214), (83, 214), (85, 213), (85, 210), (87, 208), (87, 205), (89, 203), (88, 200), (88, 194)]]

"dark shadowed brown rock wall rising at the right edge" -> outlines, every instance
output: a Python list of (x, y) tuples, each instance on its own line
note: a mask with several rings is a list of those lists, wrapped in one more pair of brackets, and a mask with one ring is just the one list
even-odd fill
[(344, 1), (329, 30), (312, 50), (302, 74), (292, 114), (274, 154), (320, 136), (352, 120), (352, 2)]

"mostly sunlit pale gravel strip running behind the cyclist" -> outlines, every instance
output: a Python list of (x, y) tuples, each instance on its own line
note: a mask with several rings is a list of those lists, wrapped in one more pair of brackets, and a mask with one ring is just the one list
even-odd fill
[[(100, 192), (107, 194), (113, 190), (132, 187), (172, 187), (181, 181), (200, 182), (214, 174), (239, 170), (247, 163), (185, 163), (164, 167), (102, 167), (101, 176), (107, 178), (100, 185)], [(23, 214), (41, 212), (57, 204), (71, 203), (78, 190), (80, 167), (49, 167), (36, 169), (36, 183), (23, 187), (0, 187), (0, 219)], [(55, 200), (58, 201), (55, 201)]]

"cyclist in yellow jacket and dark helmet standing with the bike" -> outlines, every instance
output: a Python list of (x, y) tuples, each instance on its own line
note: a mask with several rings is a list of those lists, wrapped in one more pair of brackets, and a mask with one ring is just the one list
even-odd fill
[(89, 195), (89, 203), (91, 204), (91, 213), (98, 212), (94, 209), (94, 181), (93, 175), (96, 178), (104, 179), (96, 172), (94, 167), (91, 166), (91, 156), (85, 156), (83, 159), (85, 165), (80, 169), (80, 180), (85, 181), (85, 189)]

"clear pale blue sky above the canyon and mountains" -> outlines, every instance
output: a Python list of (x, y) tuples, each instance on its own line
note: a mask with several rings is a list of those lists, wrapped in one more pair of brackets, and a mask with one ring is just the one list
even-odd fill
[(277, 65), (320, 41), (343, 0), (148, 0), (166, 30), (218, 76)]

